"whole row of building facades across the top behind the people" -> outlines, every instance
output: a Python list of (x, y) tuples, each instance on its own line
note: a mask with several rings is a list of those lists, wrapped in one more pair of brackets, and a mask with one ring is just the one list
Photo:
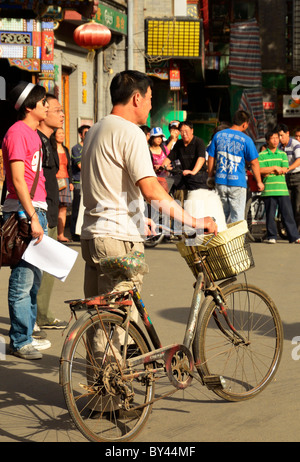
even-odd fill
[[(91, 18), (112, 34), (94, 55), (73, 39)], [(0, 21), (6, 92), (19, 80), (55, 92), (69, 148), (82, 123), (110, 112), (110, 82), (129, 68), (152, 76), (148, 123), (166, 135), (170, 120), (188, 117), (208, 141), (239, 107), (255, 117), (254, 138), (278, 120), (297, 124), (300, 98), (291, 92), (300, 83), (292, 84), (300, 63), (300, 0), (272, 0), (272, 9), (269, 0), (0, 0)], [(250, 38), (243, 43), (245, 28)], [(243, 54), (241, 44), (256, 52)], [(10, 123), (4, 112), (2, 135)]]

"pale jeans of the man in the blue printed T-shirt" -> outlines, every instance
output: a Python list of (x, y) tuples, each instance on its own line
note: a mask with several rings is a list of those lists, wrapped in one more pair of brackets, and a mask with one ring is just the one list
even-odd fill
[(216, 184), (220, 196), (226, 221), (231, 223), (245, 219), (247, 189), (235, 186)]

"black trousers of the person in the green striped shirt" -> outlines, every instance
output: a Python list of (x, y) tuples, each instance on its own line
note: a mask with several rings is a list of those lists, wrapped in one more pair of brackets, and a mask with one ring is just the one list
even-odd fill
[(281, 213), (281, 218), (289, 241), (295, 242), (299, 239), (300, 236), (295, 222), (290, 196), (267, 196), (264, 197), (264, 203), (266, 208), (268, 239), (277, 238), (277, 227), (275, 221), (277, 207)]

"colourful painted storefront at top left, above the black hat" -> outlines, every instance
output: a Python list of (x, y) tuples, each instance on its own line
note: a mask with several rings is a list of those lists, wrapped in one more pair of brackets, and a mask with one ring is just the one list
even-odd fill
[(55, 91), (54, 30), (65, 9), (90, 18), (97, 7), (95, 0), (0, 0), (0, 142), (15, 118), (5, 98), (20, 80)]

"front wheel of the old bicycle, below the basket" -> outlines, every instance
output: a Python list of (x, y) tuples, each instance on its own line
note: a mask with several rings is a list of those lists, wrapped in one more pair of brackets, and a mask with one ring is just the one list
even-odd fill
[(283, 347), (282, 323), (274, 302), (253, 285), (233, 284), (223, 294), (230, 322), (250, 343), (240, 343), (219, 314), (222, 332), (213, 317), (215, 302), (207, 297), (193, 345), (195, 362), (200, 376), (216, 374), (225, 379), (225, 388), (213, 390), (218, 396), (227, 401), (247, 400), (260, 393), (277, 371)]

